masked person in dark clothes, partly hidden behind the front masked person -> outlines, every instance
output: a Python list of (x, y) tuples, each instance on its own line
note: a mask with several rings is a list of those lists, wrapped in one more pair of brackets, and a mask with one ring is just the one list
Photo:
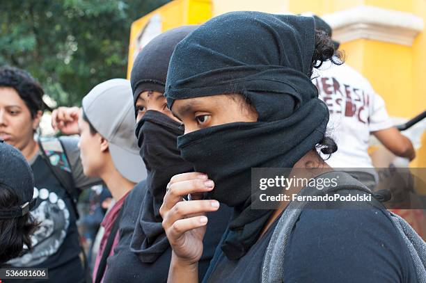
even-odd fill
[[(141, 147), (148, 177), (145, 186), (127, 197), (120, 223), (120, 242), (108, 259), (104, 282), (166, 282), (171, 247), (161, 227), (159, 208), (166, 186), (173, 175), (194, 170), (180, 157), (176, 147), (183, 134), (181, 122), (168, 109), (164, 86), (168, 63), (175, 45), (197, 26), (182, 26), (152, 39), (138, 54), (130, 81), (134, 94), (136, 137)], [(145, 193), (146, 190), (146, 193)], [(205, 250), (200, 259), (199, 277), (203, 278), (214, 249), (230, 218), (230, 209), (212, 216)]]

